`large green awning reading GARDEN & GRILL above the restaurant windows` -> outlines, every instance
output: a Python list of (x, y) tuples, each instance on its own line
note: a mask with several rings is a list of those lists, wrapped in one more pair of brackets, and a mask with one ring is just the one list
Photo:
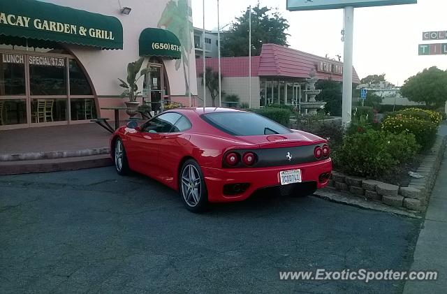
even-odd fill
[(1, 0), (0, 41), (24, 45), (28, 40), (122, 49), (123, 27), (116, 17), (85, 10), (37, 0)]

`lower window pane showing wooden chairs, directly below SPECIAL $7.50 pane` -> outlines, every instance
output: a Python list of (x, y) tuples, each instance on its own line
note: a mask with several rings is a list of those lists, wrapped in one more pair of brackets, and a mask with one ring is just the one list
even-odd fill
[(31, 100), (31, 122), (61, 122), (67, 120), (66, 99)]

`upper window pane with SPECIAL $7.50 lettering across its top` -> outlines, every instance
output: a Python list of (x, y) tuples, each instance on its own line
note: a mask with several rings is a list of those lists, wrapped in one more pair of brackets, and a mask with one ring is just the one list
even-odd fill
[(65, 59), (29, 56), (31, 95), (66, 95)]

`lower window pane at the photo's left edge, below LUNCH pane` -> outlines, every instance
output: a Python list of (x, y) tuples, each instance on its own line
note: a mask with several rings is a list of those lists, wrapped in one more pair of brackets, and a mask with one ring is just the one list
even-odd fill
[(27, 123), (25, 99), (0, 100), (0, 126)]

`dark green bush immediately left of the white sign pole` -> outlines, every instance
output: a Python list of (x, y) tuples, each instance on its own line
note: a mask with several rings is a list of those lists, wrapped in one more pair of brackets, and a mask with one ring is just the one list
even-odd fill
[(342, 115), (342, 83), (334, 80), (319, 80), (316, 82), (316, 89), (321, 89), (316, 100), (327, 102), (324, 107), (325, 112), (335, 116)]

